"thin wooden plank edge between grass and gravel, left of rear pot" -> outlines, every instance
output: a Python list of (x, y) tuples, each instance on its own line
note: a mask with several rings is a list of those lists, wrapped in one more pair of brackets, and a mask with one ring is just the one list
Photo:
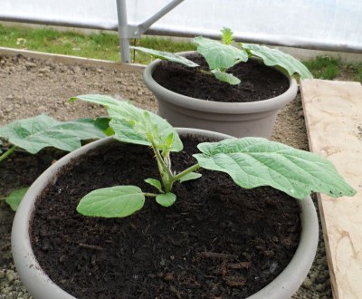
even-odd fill
[(22, 55), (28, 58), (52, 60), (53, 62), (56, 63), (68, 63), (68, 64), (78, 63), (81, 65), (99, 66), (99, 67), (104, 67), (106, 69), (112, 69), (112, 70), (116, 69), (121, 72), (143, 72), (145, 69), (145, 65), (138, 63), (117, 63), (117, 62), (110, 62), (107, 60), (90, 59), (90, 58), (71, 56), (71, 55), (43, 53), (43, 52), (5, 48), (5, 47), (0, 47), (0, 55), (7, 55), (7, 56)]

